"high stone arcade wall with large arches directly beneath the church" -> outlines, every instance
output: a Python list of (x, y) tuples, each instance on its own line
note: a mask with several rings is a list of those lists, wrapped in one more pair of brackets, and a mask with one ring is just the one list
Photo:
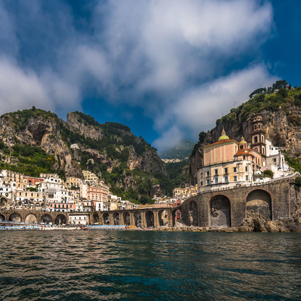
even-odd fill
[(188, 226), (218, 228), (238, 226), (259, 214), (270, 220), (291, 217), (296, 210), (294, 178), (198, 194), (179, 206), (182, 219)]

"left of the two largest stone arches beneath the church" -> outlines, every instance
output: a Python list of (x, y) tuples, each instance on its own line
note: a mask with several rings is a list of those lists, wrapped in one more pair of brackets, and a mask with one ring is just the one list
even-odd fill
[(231, 202), (225, 195), (218, 194), (209, 201), (210, 226), (215, 228), (231, 227)]

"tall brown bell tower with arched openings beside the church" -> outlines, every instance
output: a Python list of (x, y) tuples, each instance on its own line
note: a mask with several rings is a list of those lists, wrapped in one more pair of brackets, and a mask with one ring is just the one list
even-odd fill
[(266, 156), (265, 131), (262, 127), (262, 115), (254, 114), (250, 132), (251, 148), (256, 149), (262, 156)]

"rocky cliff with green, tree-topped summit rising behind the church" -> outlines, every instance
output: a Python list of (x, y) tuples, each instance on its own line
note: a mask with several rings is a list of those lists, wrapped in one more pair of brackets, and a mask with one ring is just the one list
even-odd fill
[(197, 170), (201, 167), (202, 147), (216, 142), (223, 127), (230, 138), (240, 141), (241, 136), (244, 136), (245, 140), (249, 141), (251, 117), (254, 113), (262, 114), (266, 137), (274, 145), (285, 147), (286, 156), (299, 162), (301, 155), (301, 88), (285, 89), (285, 91), (280, 89), (272, 93), (256, 95), (218, 119), (213, 129), (200, 133), (199, 141), (190, 156), (192, 184), (196, 183)]

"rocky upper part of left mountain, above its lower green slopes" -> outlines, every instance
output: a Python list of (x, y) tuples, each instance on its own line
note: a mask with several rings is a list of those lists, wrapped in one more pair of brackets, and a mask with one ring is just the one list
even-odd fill
[[(4, 114), (0, 117), (0, 140), (9, 148), (15, 144), (40, 146), (55, 157), (53, 168), (64, 170), (66, 176), (81, 178), (82, 169), (87, 168), (101, 176), (101, 171), (111, 173), (121, 162), (130, 170), (167, 175), (156, 149), (141, 137), (135, 137), (127, 126), (101, 125), (94, 118), (78, 113), (68, 113), (67, 122), (35, 108)], [(71, 149), (73, 143), (77, 143), (78, 148)], [(137, 188), (134, 177), (127, 179), (127, 176), (123, 174), (124, 183), (118, 179), (121, 182), (116, 182), (116, 186), (124, 185), (125, 191), (129, 186)]]

